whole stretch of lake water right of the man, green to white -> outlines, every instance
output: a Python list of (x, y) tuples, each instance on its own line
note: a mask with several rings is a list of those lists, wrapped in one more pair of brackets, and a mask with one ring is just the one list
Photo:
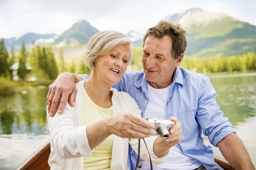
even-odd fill
[[(241, 138), (247, 152), (256, 166), (256, 76), (211, 78), (216, 92), (216, 100), (224, 116), (229, 118)], [(204, 136), (204, 143), (212, 146)], [(217, 147), (215, 156), (224, 158)]]

